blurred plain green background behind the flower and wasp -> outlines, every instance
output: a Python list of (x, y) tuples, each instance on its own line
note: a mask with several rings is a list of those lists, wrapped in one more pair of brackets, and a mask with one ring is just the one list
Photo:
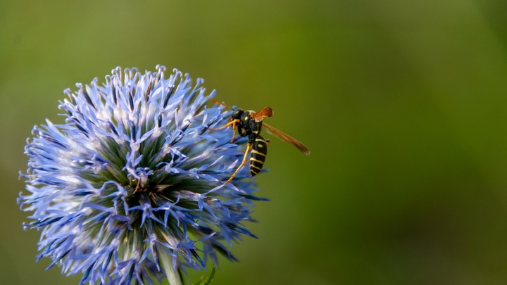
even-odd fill
[[(58, 100), (120, 65), (204, 77), (270, 106), (249, 224), (212, 284), (506, 284), (507, 4), (1, 1), (0, 280), (77, 284), (35, 262), (15, 199), (25, 139)], [(268, 136), (267, 136), (268, 137)], [(205, 273), (192, 272), (199, 279)]]

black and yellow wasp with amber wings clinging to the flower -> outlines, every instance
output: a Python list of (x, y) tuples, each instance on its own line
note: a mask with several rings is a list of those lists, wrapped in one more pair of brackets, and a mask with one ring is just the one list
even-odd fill
[[(213, 101), (213, 103), (231, 108), (222, 102)], [(243, 110), (240, 108), (234, 109), (234, 112), (230, 117), (230, 122), (227, 122), (227, 124), (222, 128), (232, 126), (233, 135), (231, 142), (234, 141), (234, 132), (236, 129), (241, 137), (248, 137), (249, 140), (248, 144), (246, 145), (246, 150), (244, 151), (242, 163), (239, 165), (239, 167), (237, 167), (237, 170), (232, 174), (227, 182), (225, 182), (225, 184), (229, 184), (237, 175), (237, 172), (239, 172), (239, 170), (245, 165), (246, 158), (248, 157), (249, 153), (251, 153), (249, 160), (250, 177), (256, 176), (258, 172), (262, 170), (265, 158), (268, 155), (268, 144), (270, 142), (269, 140), (264, 139), (264, 137), (261, 135), (261, 129), (263, 127), (268, 130), (268, 133), (273, 134), (278, 139), (296, 146), (297, 149), (299, 149), (307, 156), (310, 154), (308, 148), (301, 144), (301, 141), (298, 141), (288, 134), (285, 134), (284, 132), (275, 129), (270, 125), (263, 123), (263, 118), (269, 118), (271, 116), (273, 116), (273, 109), (270, 107), (264, 107), (258, 112), (253, 110)]]

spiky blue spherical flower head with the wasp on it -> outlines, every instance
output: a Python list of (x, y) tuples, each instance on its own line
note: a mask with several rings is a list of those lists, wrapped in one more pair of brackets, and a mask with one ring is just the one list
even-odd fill
[(102, 85), (65, 90), (65, 124), (46, 120), (25, 147), (25, 227), (42, 229), (39, 258), (81, 283), (178, 283), (256, 237), (242, 224), (259, 199), (249, 171), (224, 185), (246, 143), (220, 128), (232, 111), (206, 107), (215, 91), (203, 80), (156, 69), (116, 68)]

